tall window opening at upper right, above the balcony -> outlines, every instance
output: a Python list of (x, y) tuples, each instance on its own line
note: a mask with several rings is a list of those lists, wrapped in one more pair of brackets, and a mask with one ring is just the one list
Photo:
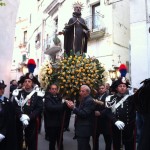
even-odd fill
[(100, 26), (100, 3), (92, 6), (92, 29), (97, 29)]

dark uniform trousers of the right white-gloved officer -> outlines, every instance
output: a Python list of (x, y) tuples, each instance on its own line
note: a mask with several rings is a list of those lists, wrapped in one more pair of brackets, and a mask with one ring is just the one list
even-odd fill
[(135, 131), (134, 126), (125, 126), (124, 130), (119, 130), (116, 126), (113, 126), (112, 138), (114, 150), (120, 150), (121, 145), (125, 146), (125, 150), (134, 150), (135, 149), (134, 131)]

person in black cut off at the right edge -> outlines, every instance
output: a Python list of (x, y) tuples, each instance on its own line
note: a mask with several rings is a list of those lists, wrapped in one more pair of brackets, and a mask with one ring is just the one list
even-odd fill
[(150, 78), (142, 81), (143, 85), (134, 94), (136, 109), (143, 117), (143, 126), (141, 129), (141, 138), (137, 150), (150, 149)]

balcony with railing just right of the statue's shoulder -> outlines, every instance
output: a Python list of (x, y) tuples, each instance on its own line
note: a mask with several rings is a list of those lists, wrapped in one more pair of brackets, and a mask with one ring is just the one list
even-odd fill
[(106, 27), (104, 26), (102, 16), (99, 14), (88, 16), (85, 21), (91, 31), (90, 39), (103, 37)]

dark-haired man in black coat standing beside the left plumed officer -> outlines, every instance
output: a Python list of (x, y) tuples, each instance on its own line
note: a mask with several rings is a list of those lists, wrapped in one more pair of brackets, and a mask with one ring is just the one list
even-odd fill
[(49, 150), (55, 150), (57, 143), (58, 150), (63, 150), (63, 129), (65, 121), (66, 104), (58, 94), (58, 87), (52, 84), (45, 94), (44, 114), (45, 127), (49, 139)]

